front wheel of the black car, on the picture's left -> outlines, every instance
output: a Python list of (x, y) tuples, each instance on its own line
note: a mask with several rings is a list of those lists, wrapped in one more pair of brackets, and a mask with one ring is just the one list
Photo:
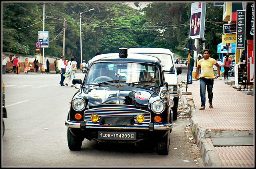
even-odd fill
[(78, 151), (81, 149), (83, 140), (78, 137), (74, 136), (70, 130), (68, 129), (68, 148), (70, 150)]

